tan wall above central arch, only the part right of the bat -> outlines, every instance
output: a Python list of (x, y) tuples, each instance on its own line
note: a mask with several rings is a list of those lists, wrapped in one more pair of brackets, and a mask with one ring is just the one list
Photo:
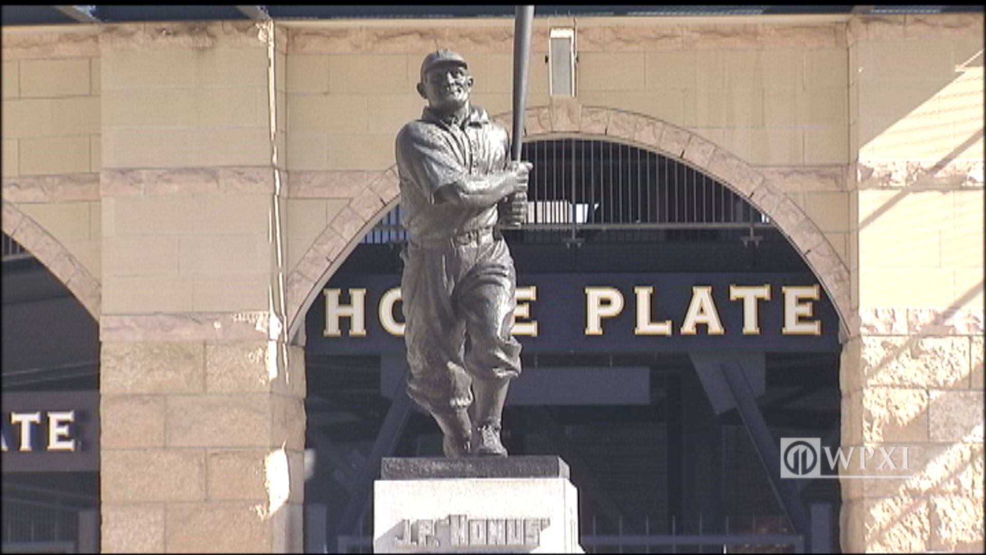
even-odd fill
[[(778, 32), (790, 29), (786, 25), (703, 28), (667, 21), (614, 28), (604, 40), (584, 41), (580, 51), (601, 52), (580, 55), (583, 101), (681, 124), (754, 164), (847, 161), (848, 76), (846, 48), (837, 40), (841, 24), (812, 28), (830, 34), (830, 40), (791, 44), (777, 39)], [(650, 35), (635, 48), (644, 55), (643, 64), (637, 63), (638, 53), (623, 51), (628, 44), (619, 34), (626, 29)], [(580, 29), (580, 39), (591, 33), (588, 26)], [(703, 38), (713, 35), (717, 40)], [(634, 75), (644, 76), (643, 87)], [(640, 92), (634, 96), (630, 91)]]

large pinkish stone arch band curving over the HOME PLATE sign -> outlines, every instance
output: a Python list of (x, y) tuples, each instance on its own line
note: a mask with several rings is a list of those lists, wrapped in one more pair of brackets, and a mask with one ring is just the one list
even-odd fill
[[(510, 114), (501, 114), (494, 119), (510, 129), (510, 118)], [(839, 314), (842, 332), (848, 330), (852, 305), (845, 263), (808, 214), (737, 155), (660, 119), (604, 107), (583, 107), (574, 101), (528, 109), (525, 127), (529, 138), (575, 134), (622, 142), (669, 156), (717, 179), (777, 225), (825, 288)], [(304, 325), (304, 314), (321, 286), (398, 197), (396, 168), (390, 167), (329, 223), (291, 271), (287, 278), (289, 337), (294, 338)]]

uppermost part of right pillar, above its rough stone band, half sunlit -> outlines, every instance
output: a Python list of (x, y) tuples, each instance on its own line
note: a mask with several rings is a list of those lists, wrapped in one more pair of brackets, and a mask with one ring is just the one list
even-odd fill
[[(850, 75), (850, 94), (859, 102), (850, 123), (858, 128), (861, 183), (953, 188), (971, 180), (982, 185), (982, 40), (969, 37), (949, 46), (950, 56), (942, 55), (940, 40), (852, 46), (858, 62), (849, 68), (856, 72)], [(976, 175), (952, 169), (957, 160), (978, 160)], [(887, 164), (891, 168), (883, 167)]]

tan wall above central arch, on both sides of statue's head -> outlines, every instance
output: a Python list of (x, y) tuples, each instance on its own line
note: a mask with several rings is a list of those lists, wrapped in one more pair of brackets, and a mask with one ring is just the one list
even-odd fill
[[(783, 37), (782, 30), (791, 27), (786, 25), (702, 27), (669, 19), (631, 22), (626, 27), (593, 18), (580, 23), (577, 95), (584, 105), (628, 110), (683, 125), (728, 142), (755, 164), (849, 161), (844, 24), (818, 23), (810, 32), (826, 38), (793, 45)], [(418, 65), (437, 44), (458, 48), (466, 55), (476, 78), (477, 104), (482, 102), (492, 114), (509, 111), (511, 56), (498, 51), (503, 45), (497, 42), (498, 34), (509, 30), (492, 20), (471, 23), (468, 32), (461, 34), (449, 30), (444, 22), (419, 26), (413, 35), (403, 37), (406, 49), (399, 53), (371, 40), (374, 34), (387, 35), (373, 26), (333, 26), (334, 33), (319, 33), (310, 27), (293, 29), (286, 76), (289, 120), (294, 122), (289, 127), (312, 135), (289, 143), (289, 168), (379, 170), (387, 162), (392, 164), (392, 144), (369, 138), (353, 142), (358, 140), (353, 133), (392, 135), (403, 122), (417, 116), (423, 106), (414, 93)], [(549, 26), (543, 20), (536, 23), (528, 106), (549, 102), (543, 49)], [(473, 27), (485, 28), (488, 34)], [(721, 30), (720, 40), (703, 39), (717, 35), (716, 30)], [(638, 41), (632, 42), (631, 37)], [(361, 103), (345, 111), (338, 108), (353, 102), (346, 98), (352, 94), (365, 95), (368, 105)], [(381, 108), (382, 104), (386, 106)], [(382, 110), (392, 115), (379, 116)], [(329, 118), (329, 113), (336, 112), (344, 114)], [(375, 124), (378, 118), (386, 124)], [(335, 134), (344, 135), (343, 140), (333, 141)], [(336, 148), (345, 150), (347, 145), (369, 152), (357, 160), (345, 152), (332, 156)], [(329, 154), (322, 153), (324, 148)], [(378, 155), (375, 149), (383, 152)]]

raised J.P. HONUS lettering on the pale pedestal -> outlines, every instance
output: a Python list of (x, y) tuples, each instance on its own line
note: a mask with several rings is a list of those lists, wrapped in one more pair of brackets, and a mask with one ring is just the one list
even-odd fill
[(549, 524), (550, 518), (470, 518), (467, 515), (404, 518), (398, 524), (399, 532), (393, 545), (409, 550), (442, 547), (532, 549), (540, 545), (541, 530)]

